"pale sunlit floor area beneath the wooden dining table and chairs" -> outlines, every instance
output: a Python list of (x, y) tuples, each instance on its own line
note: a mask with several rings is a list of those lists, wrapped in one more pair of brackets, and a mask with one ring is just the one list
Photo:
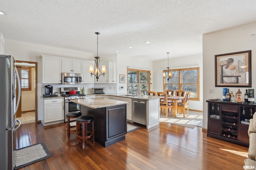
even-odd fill
[(177, 117), (168, 114), (168, 118), (166, 118), (166, 115), (160, 113), (160, 121), (192, 129), (194, 129), (196, 126), (202, 127), (202, 120), (202, 113), (190, 113), (189, 115), (185, 114), (185, 118), (183, 117), (183, 114), (178, 114)]

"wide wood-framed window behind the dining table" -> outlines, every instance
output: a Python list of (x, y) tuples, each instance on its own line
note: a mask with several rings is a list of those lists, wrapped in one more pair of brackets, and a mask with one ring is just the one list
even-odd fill
[[(167, 70), (164, 70), (166, 72)], [(190, 100), (199, 100), (199, 67), (172, 70), (172, 77), (164, 78), (165, 90), (184, 90), (191, 92)]]

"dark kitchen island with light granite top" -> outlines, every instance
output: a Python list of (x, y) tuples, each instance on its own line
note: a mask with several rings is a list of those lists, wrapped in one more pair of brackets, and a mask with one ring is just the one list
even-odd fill
[(94, 117), (94, 137), (98, 143), (108, 147), (125, 139), (128, 102), (106, 98), (85, 98), (72, 100), (72, 102), (80, 104), (82, 116)]

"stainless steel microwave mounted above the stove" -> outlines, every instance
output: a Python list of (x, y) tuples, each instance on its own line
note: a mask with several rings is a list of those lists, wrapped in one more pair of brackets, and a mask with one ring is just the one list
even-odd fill
[(82, 84), (82, 74), (62, 72), (62, 84)]

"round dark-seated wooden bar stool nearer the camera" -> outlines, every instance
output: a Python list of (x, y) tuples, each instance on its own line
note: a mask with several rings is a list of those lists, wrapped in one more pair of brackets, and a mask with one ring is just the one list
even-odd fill
[[(92, 123), (92, 131), (88, 131), (88, 123)], [(82, 125), (82, 132), (81, 132)], [(88, 133), (90, 135), (88, 135)], [(78, 138), (83, 140), (83, 148), (85, 139), (89, 139), (92, 137), (93, 143), (94, 141), (94, 117), (92, 116), (80, 116), (76, 118), (76, 144), (78, 144)]]

